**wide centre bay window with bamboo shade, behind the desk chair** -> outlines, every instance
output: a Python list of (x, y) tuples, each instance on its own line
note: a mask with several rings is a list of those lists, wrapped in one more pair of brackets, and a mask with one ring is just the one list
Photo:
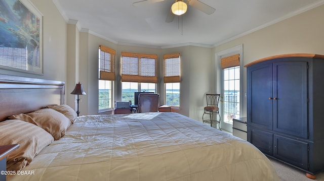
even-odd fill
[(132, 103), (135, 92), (156, 92), (157, 55), (121, 52), (121, 100)]

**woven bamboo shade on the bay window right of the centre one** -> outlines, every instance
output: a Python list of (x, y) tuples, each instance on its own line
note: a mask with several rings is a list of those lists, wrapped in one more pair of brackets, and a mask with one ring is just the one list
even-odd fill
[(164, 83), (180, 82), (180, 53), (165, 54)]

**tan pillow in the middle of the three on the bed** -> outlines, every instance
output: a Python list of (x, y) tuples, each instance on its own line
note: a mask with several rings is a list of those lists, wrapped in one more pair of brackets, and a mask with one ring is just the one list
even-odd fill
[(21, 113), (12, 115), (9, 118), (24, 120), (25, 122), (41, 127), (50, 133), (54, 137), (54, 140), (59, 140), (64, 136), (66, 129), (71, 125), (70, 120), (61, 112), (49, 108), (38, 109), (28, 114)]

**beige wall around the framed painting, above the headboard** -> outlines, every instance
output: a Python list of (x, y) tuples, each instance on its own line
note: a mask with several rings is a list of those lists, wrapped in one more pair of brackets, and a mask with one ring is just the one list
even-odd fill
[(66, 22), (52, 1), (31, 0), (43, 14), (44, 75), (0, 69), (1, 74), (66, 81)]

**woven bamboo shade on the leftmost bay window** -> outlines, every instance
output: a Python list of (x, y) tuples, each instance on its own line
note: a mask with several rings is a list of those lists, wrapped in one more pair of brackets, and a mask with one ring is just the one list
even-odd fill
[(99, 50), (99, 79), (114, 81), (116, 51), (102, 45), (99, 46)]

